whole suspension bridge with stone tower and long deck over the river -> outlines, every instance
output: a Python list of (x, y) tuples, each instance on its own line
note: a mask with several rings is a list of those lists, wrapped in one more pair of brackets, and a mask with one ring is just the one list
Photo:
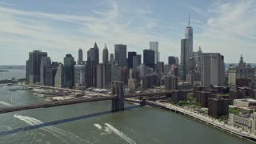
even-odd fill
[(54, 106), (71, 105), (71, 104), (83, 103), (83, 102), (97, 102), (97, 101), (106, 101), (106, 100), (112, 100), (112, 106), (111, 106), (112, 110), (124, 110), (125, 98), (137, 97), (141, 100), (141, 102), (143, 102), (144, 98), (166, 96), (167, 94), (170, 94), (170, 92), (155, 92), (155, 93), (147, 92), (147, 93), (140, 93), (140, 94), (124, 94), (123, 83), (112, 82), (112, 96), (101, 96), (97, 98), (79, 97), (79, 98), (74, 98), (70, 100), (42, 102), (42, 103), (35, 103), (35, 104), (23, 105), (23, 106), (2, 107), (0, 108), (0, 114), (19, 111), (19, 110), (30, 110), (30, 109), (47, 108), (47, 107), (54, 107)]

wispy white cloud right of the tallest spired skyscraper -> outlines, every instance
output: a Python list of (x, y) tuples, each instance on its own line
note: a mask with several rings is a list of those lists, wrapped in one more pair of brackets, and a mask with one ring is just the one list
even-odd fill
[(254, 62), (255, 4), (255, 1), (215, 3), (207, 10), (210, 16), (194, 47), (202, 46), (203, 52), (222, 53), (226, 62), (238, 61), (240, 54), (247, 56), (247, 62)]

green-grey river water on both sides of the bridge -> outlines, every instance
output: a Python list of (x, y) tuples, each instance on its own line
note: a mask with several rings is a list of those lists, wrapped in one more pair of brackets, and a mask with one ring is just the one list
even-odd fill
[[(0, 107), (44, 102), (31, 90), (9, 90), (14, 87), (0, 87)], [(110, 106), (88, 102), (0, 114), (0, 143), (250, 143), (167, 110), (126, 103), (126, 110), (111, 112)]]

